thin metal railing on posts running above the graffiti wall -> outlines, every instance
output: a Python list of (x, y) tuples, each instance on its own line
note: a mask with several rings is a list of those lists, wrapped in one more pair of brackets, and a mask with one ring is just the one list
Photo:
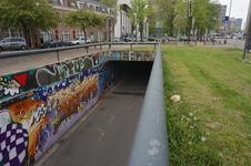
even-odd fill
[(157, 43), (157, 42), (104, 42), (104, 43), (93, 43), (93, 44), (84, 44), (84, 45), (76, 45), (76, 46), (66, 46), (66, 48), (53, 48), (53, 49), (41, 49), (41, 50), (28, 50), (28, 51), (0, 53), (0, 59), (12, 58), (12, 56), (22, 56), (22, 55), (29, 55), (29, 54), (38, 54), (38, 53), (47, 53), (47, 52), (56, 52), (57, 56), (58, 56), (58, 61), (59, 61), (59, 52), (60, 51), (86, 48), (87, 53), (88, 53), (88, 49), (90, 46), (100, 46), (100, 50), (102, 50), (102, 45), (109, 45), (109, 49), (110, 49), (111, 45), (118, 45), (118, 44), (130, 44), (131, 50), (132, 50), (132, 45), (134, 45), (134, 44), (154, 44), (154, 50), (155, 50), (155, 45), (159, 43)]

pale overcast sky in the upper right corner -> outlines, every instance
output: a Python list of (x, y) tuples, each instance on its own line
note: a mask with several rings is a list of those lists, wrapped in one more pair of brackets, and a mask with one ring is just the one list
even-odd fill
[[(221, 4), (227, 4), (227, 13), (225, 15), (229, 15), (229, 7), (231, 0), (218, 0), (219, 3)], [(251, 0), (232, 0), (231, 4), (231, 12), (230, 12), (230, 18), (242, 18), (242, 28), (245, 24), (247, 21), (247, 14), (248, 14), (248, 9), (249, 9), (249, 3)]]

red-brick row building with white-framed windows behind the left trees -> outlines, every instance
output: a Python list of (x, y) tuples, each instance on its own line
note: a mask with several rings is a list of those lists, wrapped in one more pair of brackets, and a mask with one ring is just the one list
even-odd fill
[[(108, 8), (107, 6), (102, 4), (101, 2), (94, 0), (52, 0), (49, 2), (53, 9), (57, 9), (59, 14), (62, 12), (70, 12), (74, 11), (79, 8), (93, 8), (96, 13), (98, 14), (106, 14), (107, 19), (107, 27), (106, 28), (88, 28), (86, 30), (87, 37), (91, 39), (91, 42), (106, 42), (106, 41), (113, 41), (114, 40), (114, 14), (112, 9)], [(110, 30), (110, 31), (109, 31)], [(62, 23), (58, 23), (57, 29), (50, 29), (48, 32), (42, 30), (34, 30), (33, 31), (33, 40), (34, 45), (31, 42), (31, 30), (28, 30), (29, 37), (29, 46), (38, 46), (41, 41), (47, 41), (51, 39), (61, 39), (63, 41), (71, 41), (77, 37), (83, 37), (84, 33), (81, 29), (73, 29), (73, 28), (66, 28)], [(3, 38), (11, 38), (11, 37), (23, 37), (21, 30), (4, 30), (0, 31), (0, 39)]]

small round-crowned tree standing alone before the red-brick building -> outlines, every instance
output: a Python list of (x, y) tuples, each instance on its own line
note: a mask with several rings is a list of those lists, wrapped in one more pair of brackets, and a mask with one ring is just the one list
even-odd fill
[(76, 11), (63, 13), (63, 24), (64, 27), (79, 28), (83, 30), (84, 39), (87, 43), (87, 32), (86, 29), (90, 27), (104, 28), (106, 15), (100, 15), (90, 8), (81, 8)]

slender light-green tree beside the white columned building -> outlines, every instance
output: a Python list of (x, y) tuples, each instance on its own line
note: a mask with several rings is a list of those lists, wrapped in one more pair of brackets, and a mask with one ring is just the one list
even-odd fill
[(139, 24), (140, 40), (142, 41), (143, 23), (150, 14), (150, 8), (148, 8), (147, 0), (131, 0), (131, 10), (129, 11), (129, 17), (132, 24), (135, 24), (135, 41), (137, 41), (137, 25)]

